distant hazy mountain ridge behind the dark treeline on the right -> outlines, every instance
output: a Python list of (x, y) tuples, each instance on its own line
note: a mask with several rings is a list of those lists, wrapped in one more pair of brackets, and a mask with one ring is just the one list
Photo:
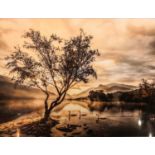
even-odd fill
[(107, 85), (102, 85), (100, 84), (98, 87), (95, 88), (89, 88), (80, 94), (73, 95), (71, 99), (82, 99), (82, 98), (87, 98), (89, 95), (89, 92), (91, 90), (103, 90), (105, 93), (116, 93), (116, 92), (127, 92), (136, 89), (135, 86), (132, 85), (126, 85), (126, 84), (121, 84), (121, 83), (110, 83)]

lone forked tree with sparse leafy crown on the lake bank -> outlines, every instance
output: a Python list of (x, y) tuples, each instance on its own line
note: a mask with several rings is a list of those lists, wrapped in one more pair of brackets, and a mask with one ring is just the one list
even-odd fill
[[(54, 34), (47, 38), (32, 29), (23, 37), (27, 41), (6, 58), (7, 67), (15, 84), (38, 87), (46, 95), (43, 120), (47, 121), (70, 88), (79, 82), (87, 83), (89, 76), (97, 78), (92, 62), (99, 52), (92, 49), (92, 36), (83, 30), (69, 40)], [(55, 99), (50, 101), (53, 92)]]

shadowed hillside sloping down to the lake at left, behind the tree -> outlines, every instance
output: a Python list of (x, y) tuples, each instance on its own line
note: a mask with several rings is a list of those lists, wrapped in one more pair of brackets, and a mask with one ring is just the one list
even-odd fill
[(8, 77), (0, 75), (0, 99), (29, 99), (42, 97), (43, 94), (40, 90), (24, 86), (15, 88)]

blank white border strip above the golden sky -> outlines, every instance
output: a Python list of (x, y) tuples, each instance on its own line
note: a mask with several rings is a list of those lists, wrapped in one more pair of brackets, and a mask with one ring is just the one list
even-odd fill
[(2, 18), (153, 18), (154, 0), (4, 0)]

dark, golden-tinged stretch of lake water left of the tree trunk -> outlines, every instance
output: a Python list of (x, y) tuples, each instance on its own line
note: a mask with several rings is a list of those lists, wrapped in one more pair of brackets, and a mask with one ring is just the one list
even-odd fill
[(33, 113), (43, 107), (42, 100), (12, 99), (0, 101), (0, 124)]

